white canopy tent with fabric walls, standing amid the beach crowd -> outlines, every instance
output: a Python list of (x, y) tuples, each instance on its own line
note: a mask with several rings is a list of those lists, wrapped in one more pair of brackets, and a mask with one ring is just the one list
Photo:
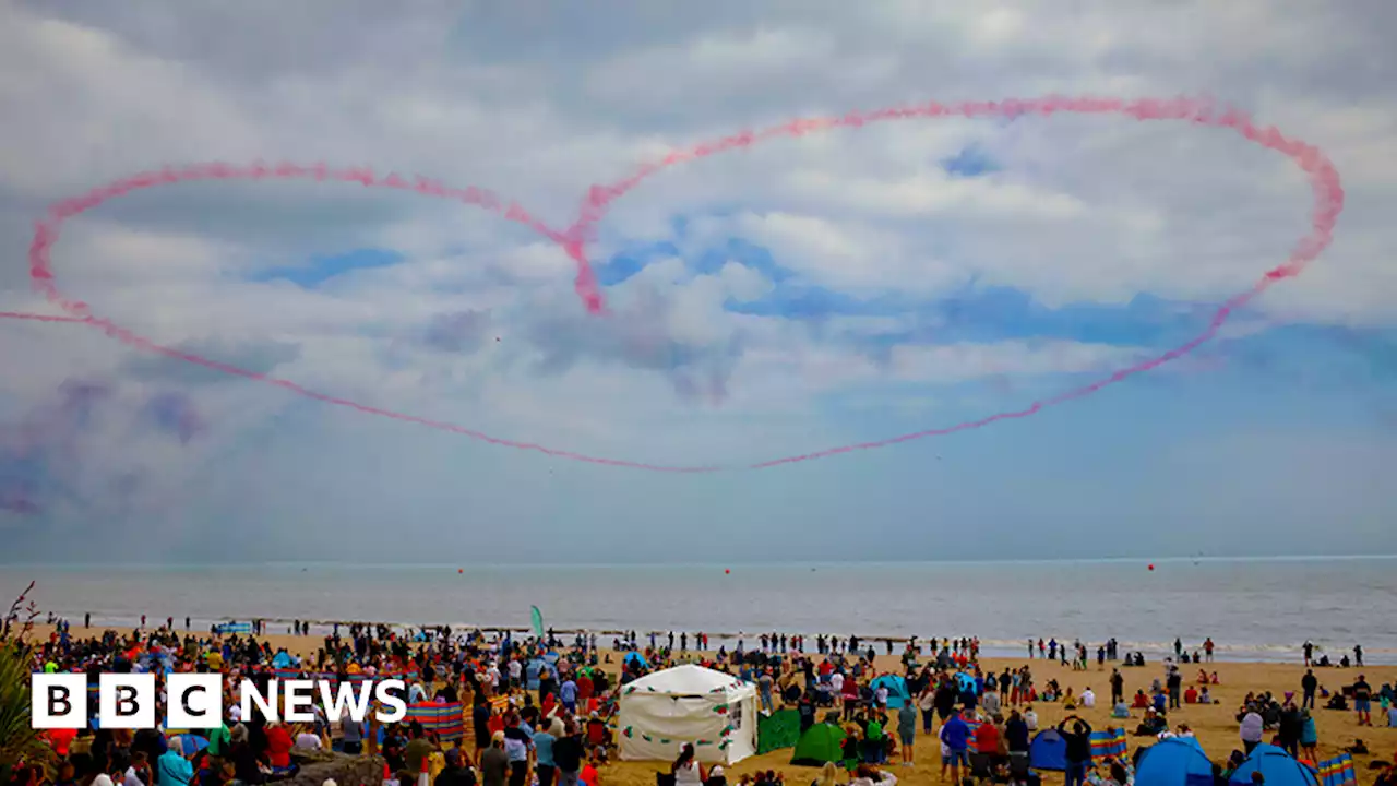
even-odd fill
[(676, 666), (620, 689), (620, 758), (673, 761), (685, 743), (698, 761), (736, 764), (757, 752), (757, 689), (712, 669)]

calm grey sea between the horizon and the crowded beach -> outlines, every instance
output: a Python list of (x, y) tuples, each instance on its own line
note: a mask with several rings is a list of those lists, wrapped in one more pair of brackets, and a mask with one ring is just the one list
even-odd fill
[[(0, 565), (0, 599), (31, 582), (41, 611), (95, 625), (292, 620), (527, 629), (531, 607), (559, 632), (703, 631), (711, 646), (761, 632), (865, 639), (978, 636), (1024, 656), (1027, 641), (1116, 638), (1172, 653), (1206, 638), (1222, 660), (1299, 660), (1312, 641), (1337, 663), (1397, 664), (1397, 557), (1053, 562), (733, 565)], [(813, 646), (813, 641), (812, 641)], [(883, 649), (879, 643), (879, 649)], [(807, 648), (809, 649), (809, 648)]]

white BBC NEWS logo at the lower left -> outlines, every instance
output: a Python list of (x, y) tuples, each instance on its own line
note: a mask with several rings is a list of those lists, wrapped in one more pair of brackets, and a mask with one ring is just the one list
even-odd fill
[[(34, 674), (31, 726), (34, 729), (87, 729), (87, 674)], [(169, 674), (165, 729), (215, 729), (224, 722), (222, 674)], [(268, 680), (263, 692), (251, 680), (242, 681), (239, 708), (251, 717), (254, 708), (267, 720), (313, 723), (316, 698), (331, 719), (363, 723), (370, 705), (379, 723), (398, 723), (408, 715), (402, 699), (407, 683), (380, 680), (334, 683), (330, 680)], [(98, 723), (103, 729), (155, 729), (155, 674), (98, 676)]]

